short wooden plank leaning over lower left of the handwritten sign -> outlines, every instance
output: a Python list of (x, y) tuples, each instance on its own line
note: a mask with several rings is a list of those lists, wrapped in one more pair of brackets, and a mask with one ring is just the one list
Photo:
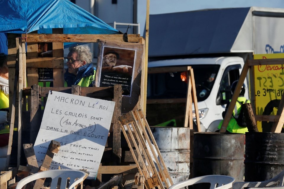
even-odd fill
[[(45, 157), (43, 159), (42, 165), (39, 168), (39, 172), (49, 170), (49, 167), (51, 165), (52, 159), (55, 154), (59, 152), (60, 149), (60, 143), (57, 141), (52, 140), (48, 146), (47, 152), (45, 154)], [(45, 178), (37, 179), (35, 181), (34, 189), (40, 189), (43, 187), (43, 183), (45, 181)]]

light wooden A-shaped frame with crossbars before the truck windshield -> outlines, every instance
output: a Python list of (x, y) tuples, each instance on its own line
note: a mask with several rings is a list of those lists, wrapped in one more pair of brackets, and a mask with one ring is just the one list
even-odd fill
[[(196, 97), (196, 88), (194, 81), (193, 69), (191, 66), (173, 66), (173, 67), (159, 67), (159, 68), (148, 68), (148, 74), (157, 74), (157, 73), (167, 73), (167, 72), (187, 72), (188, 86), (187, 94), (185, 99), (154, 99), (147, 100), (147, 103), (158, 104), (158, 103), (178, 103), (185, 102), (185, 119), (184, 127), (190, 127), (193, 129), (193, 116), (192, 116), (192, 102), (194, 103), (194, 109), (198, 112), (197, 106), (197, 97)], [(197, 130), (201, 131), (199, 114), (196, 113), (196, 125)]]

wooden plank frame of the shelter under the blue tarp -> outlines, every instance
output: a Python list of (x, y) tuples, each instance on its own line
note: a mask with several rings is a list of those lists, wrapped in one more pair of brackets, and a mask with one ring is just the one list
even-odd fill
[[(55, 30), (54, 30), (55, 31)], [(60, 30), (59, 30), (60, 32)], [(15, 88), (13, 91), (10, 91), (10, 109), (14, 110), (12, 111), (12, 119), (10, 124), (10, 130), (14, 127), (18, 128), (18, 154), (21, 154), (21, 131), (22, 131), (22, 113), (24, 113), (25, 109), (25, 103), (26, 99), (25, 96), (28, 96), (28, 110), (30, 110), (30, 123), (31, 127), (38, 127), (38, 121), (41, 116), (41, 108), (39, 106), (39, 97), (46, 97), (46, 91), (56, 90), (56, 91), (62, 91), (62, 90), (69, 90), (72, 94), (79, 94), (83, 96), (89, 96), (89, 97), (97, 97), (97, 94), (105, 95), (104, 92), (96, 92), (96, 95), (94, 94), (94, 91), (90, 90), (101, 90), (102, 88), (109, 88), (109, 87), (63, 87), (63, 73), (64, 73), (64, 66), (63, 66), (63, 42), (82, 42), (82, 43), (96, 43), (99, 40), (113, 40), (118, 42), (123, 42), (123, 35), (121, 34), (111, 34), (111, 35), (88, 35), (88, 34), (23, 34), (22, 36), (15, 35), (15, 34), (9, 34), (8, 35), (9, 43), (8, 45), (8, 67), (9, 67), (9, 86), (10, 89)], [(37, 43), (44, 42), (44, 43), (52, 43), (53, 44), (53, 56), (54, 57), (38, 57), (37, 56)], [(130, 43), (142, 43), (145, 44), (145, 40), (140, 37), (140, 35), (136, 34), (129, 34), (128, 35), (128, 42)], [(17, 45), (16, 45), (17, 44)], [(27, 44), (27, 56), (25, 53)], [(17, 66), (16, 60), (17, 59)], [(145, 60), (145, 57), (143, 57), (143, 61)], [(43, 64), (44, 63), (44, 66)], [(53, 68), (54, 71), (54, 86), (56, 87), (39, 87), (38, 84), (38, 72), (37, 68)], [(16, 69), (19, 68), (19, 71), (16, 71)], [(19, 74), (19, 76), (17, 76)], [(32, 88), (27, 87), (27, 78), (25, 77), (28, 75), (28, 85), (36, 84), (36, 86), (33, 86)], [(141, 70), (141, 92), (140, 92), (140, 98), (135, 106), (135, 109), (143, 108), (143, 100), (146, 102), (146, 95), (144, 93), (146, 92), (144, 88), (146, 88), (146, 83), (144, 82), (145, 75), (147, 76), (147, 69), (145, 69), (144, 66), (142, 66)], [(19, 79), (17, 79), (19, 78)], [(17, 82), (18, 80), (18, 82)], [(30, 82), (31, 81), (31, 82)], [(15, 84), (14, 84), (15, 83)], [(79, 88), (78, 88), (79, 87)], [(88, 88), (88, 89), (87, 89)], [(117, 89), (114, 89), (116, 92)], [(13, 97), (14, 96), (14, 97)], [(17, 103), (16, 96), (19, 99), (19, 103)], [(145, 99), (144, 99), (145, 98)], [(120, 100), (121, 101), (121, 94), (119, 96), (116, 96), (115, 101)], [(12, 104), (12, 102), (14, 102)], [(24, 105), (23, 105), (24, 104)], [(118, 104), (115, 110), (121, 110), (121, 104)], [(117, 105), (116, 105), (117, 106)], [(10, 111), (11, 114), (11, 111)], [(13, 117), (14, 115), (14, 117)], [(122, 150), (121, 150), (121, 130), (118, 126), (118, 116), (120, 115), (120, 112), (114, 113), (112, 122), (114, 123), (113, 127), (113, 146), (112, 146), (112, 154), (115, 155), (114, 159), (114, 165), (118, 165), (116, 167), (116, 170), (113, 170), (113, 172), (120, 172), (122, 168), (120, 168), (119, 164), (122, 157)], [(11, 116), (10, 116), (11, 117)], [(17, 120), (18, 119), (18, 120)], [(34, 131), (31, 130), (31, 136), (34, 135)], [(10, 138), (12, 139), (13, 132), (10, 132)], [(31, 139), (32, 141), (35, 140), (35, 138)], [(12, 141), (11, 143), (12, 144)], [(10, 157), (11, 153), (11, 146), (9, 146), (8, 156)], [(7, 161), (7, 168), (9, 167), (9, 160)], [(17, 165), (20, 165), (20, 155), (18, 155), (18, 161)], [(123, 170), (129, 170), (130, 168), (123, 168)], [(101, 181), (101, 174), (98, 174), (97, 180)]]

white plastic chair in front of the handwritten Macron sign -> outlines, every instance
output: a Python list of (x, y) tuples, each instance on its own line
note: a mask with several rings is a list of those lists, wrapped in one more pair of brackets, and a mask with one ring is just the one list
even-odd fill
[(81, 183), (84, 180), (85, 176), (86, 173), (79, 170), (47, 170), (23, 178), (17, 184), (16, 189), (22, 189), (22, 187), (25, 186), (26, 184), (40, 178), (52, 179), (50, 189), (57, 188), (57, 183), (59, 178), (61, 178), (60, 188), (65, 189), (67, 185), (67, 178), (70, 178), (70, 184), (68, 189), (73, 189), (75, 185)]

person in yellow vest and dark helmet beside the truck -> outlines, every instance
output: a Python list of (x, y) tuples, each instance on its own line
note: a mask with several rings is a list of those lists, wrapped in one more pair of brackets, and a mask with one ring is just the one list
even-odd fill
[[(234, 81), (232, 83), (232, 85), (231, 85), (231, 92), (232, 92), (232, 94), (235, 91), (237, 83), (238, 83), (238, 80)], [(245, 103), (250, 103), (250, 100), (248, 100), (248, 99), (246, 99), (246, 97), (244, 97), (245, 92), (246, 92), (246, 86), (243, 84), (243, 86), (241, 88), (240, 95), (239, 95), (239, 97), (237, 99), (237, 102), (235, 104), (235, 108), (233, 110), (230, 122), (228, 123), (227, 132), (230, 132), (230, 133), (243, 133), (243, 134), (245, 134), (246, 132), (249, 132), (247, 127), (240, 126), (237, 123), (237, 119), (238, 119), (238, 117), (240, 115), (240, 111), (241, 111), (241, 105), (245, 104)], [(225, 111), (222, 113), (223, 118), (225, 117), (225, 114), (227, 112), (227, 108), (228, 107), (229, 107), (229, 104), (227, 104)], [(220, 124), (218, 126), (218, 129), (221, 128), (222, 123), (223, 123), (223, 120), (220, 122)]]

